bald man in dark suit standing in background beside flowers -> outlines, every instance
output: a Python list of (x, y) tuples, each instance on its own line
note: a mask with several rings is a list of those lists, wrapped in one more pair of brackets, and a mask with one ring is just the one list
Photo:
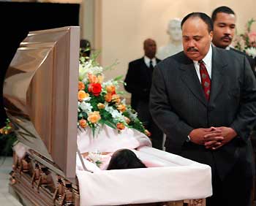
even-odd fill
[(143, 49), (145, 56), (129, 63), (124, 88), (132, 94), (131, 105), (138, 112), (138, 118), (151, 132), (153, 147), (162, 150), (163, 133), (152, 120), (148, 109), (152, 72), (160, 61), (156, 58), (157, 44), (153, 39), (146, 39)]

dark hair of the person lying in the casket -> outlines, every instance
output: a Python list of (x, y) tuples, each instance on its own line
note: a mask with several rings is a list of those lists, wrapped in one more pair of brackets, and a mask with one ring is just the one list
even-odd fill
[(110, 169), (135, 169), (146, 168), (146, 165), (138, 159), (136, 154), (132, 150), (122, 149), (113, 153), (110, 163), (108, 164), (108, 170)]

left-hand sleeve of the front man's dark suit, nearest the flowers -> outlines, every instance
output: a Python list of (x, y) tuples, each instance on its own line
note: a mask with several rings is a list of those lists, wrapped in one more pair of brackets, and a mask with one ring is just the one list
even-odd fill
[(167, 96), (165, 78), (158, 66), (154, 69), (149, 107), (152, 118), (159, 128), (167, 134), (167, 137), (171, 137), (169, 142), (176, 148), (181, 148), (193, 128), (173, 112)]

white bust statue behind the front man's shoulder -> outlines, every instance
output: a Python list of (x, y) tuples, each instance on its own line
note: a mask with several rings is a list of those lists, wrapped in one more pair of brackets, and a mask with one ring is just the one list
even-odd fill
[(167, 45), (159, 47), (159, 50), (157, 52), (157, 57), (159, 59), (164, 59), (168, 56), (172, 56), (183, 49), (180, 19), (174, 18), (169, 21), (167, 34), (170, 35), (170, 41)]

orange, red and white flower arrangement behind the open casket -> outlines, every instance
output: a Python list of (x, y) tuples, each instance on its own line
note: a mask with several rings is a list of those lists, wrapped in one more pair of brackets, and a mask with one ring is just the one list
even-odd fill
[(143, 127), (132, 110), (121, 98), (119, 85), (124, 83), (121, 76), (104, 82), (103, 69), (96, 61), (97, 55), (91, 58), (80, 56), (79, 83), (78, 83), (78, 128), (92, 130), (93, 135), (99, 132), (105, 124), (121, 131), (132, 128), (150, 133)]

